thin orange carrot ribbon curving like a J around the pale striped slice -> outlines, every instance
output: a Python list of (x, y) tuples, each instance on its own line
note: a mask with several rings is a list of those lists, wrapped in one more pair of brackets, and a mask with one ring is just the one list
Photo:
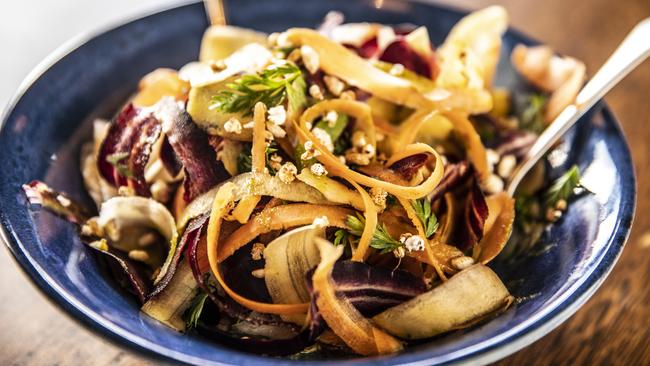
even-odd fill
[(255, 300), (248, 299), (233, 291), (226, 281), (224, 281), (219, 271), (218, 255), (219, 255), (219, 233), (221, 232), (221, 221), (228, 213), (230, 207), (235, 199), (235, 190), (237, 186), (233, 183), (225, 183), (214, 198), (212, 211), (210, 213), (210, 221), (208, 222), (207, 244), (208, 244), (208, 261), (210, 262), (210, 269), (212, 274), (217, 279), (223, 290), (233, 300), (245, 306), (248, 309), (255, 310), (261, 313), (277, 314), (277, 315), (290, 315), (306, 313), (309, 309), (309, 304), (269, 304)]

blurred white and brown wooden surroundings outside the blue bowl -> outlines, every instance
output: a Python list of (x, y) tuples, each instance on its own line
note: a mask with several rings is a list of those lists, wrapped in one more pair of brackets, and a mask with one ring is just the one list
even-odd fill
[[(272, 1), (272, 0), (269, 0)], [(323, 0), (325, 1), (325, 0)], [(422, 0), (420, 0), (422, 1)], [(179, 0), (0, 2), (0, 105), (50, 52)], [(511, 25), (587, 64), (593, 73), (625, 34), (650, 16), (648, 0), (436, 0), (473, 10), (501, 4)], [(648, 40), (650, 42), (650, 40)], [(650, 62), (606, 98), (630, 143), (638, 206), (627, 247), (601, 289), (558, 329), (501, 364), (650, 364)], [(97, 337), (48, 303), (0, 250), (0, 365), (158, 364)]]

